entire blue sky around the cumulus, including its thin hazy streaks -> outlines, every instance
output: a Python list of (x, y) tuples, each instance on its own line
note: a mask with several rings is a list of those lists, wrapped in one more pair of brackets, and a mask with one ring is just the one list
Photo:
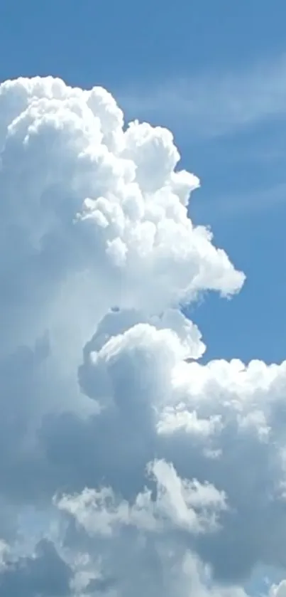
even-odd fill
[[(285, 356), (284, 0), (11, 0), (0, 6), (0, 78), (104, 85), (126, 117), (175, 133), (202, 179), (194, 221), (247, 275), (230, 302), (192, 309), (207, 356)], [(223, 332), (221, 332), (223, 330)]]

